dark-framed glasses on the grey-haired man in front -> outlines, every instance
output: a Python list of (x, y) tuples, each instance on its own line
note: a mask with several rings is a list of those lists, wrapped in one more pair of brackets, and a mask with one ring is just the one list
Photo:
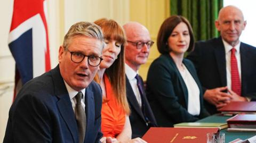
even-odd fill
[(73, 61), (74, 63), (81, 63), (84, 60), (84, 57), (88, 57), (88, 64), (91, 66), (98, 66), (100, 64), (100, 62), (103, 60), (103, 58), (99, 57), (99, 56), (95, 56), (95, 55), (84, 55), (82, 53), (79, 52), (71, 52), (68, 50), (68, 52), (70, 52), (71, 54), (71, 61)]

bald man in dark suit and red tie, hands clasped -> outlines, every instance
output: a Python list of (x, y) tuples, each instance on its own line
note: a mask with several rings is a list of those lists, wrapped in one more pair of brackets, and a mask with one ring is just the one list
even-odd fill
[(221, 37), (197, 42), (187, 57), (196, 66), (205, 91), (205, 107), (211, 114), (230, 101), (256, 97), (256, 48), (239, 41), (245, 26), (241, 10), (223, 7), (215, 21)]

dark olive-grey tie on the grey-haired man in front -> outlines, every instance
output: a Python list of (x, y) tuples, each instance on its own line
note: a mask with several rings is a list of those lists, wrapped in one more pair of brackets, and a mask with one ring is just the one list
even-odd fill
[(76, 121), (78, 127), (79, 143), (84, 142), (85, 129), (86, 129), (86, 115), (82, 106), (81, 100), (83, 98), (82, 92), (78, 92), (76, 95)]

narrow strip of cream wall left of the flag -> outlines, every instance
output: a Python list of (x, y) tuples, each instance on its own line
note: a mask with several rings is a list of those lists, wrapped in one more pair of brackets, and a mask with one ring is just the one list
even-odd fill
[(9, 108), (12, 103), (14, 60), (7, 47), (13, 0), (0, 1), (0, 142), (3, 140)]

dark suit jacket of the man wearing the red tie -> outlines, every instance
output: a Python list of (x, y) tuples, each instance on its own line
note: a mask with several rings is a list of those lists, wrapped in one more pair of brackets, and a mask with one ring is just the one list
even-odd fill
[[(256, 92), (256, 48), (241, 42), (240, 56), (242, 96), (251, 97), (254, 100), (256, 97), (254, 94)], [(204, 90), (227, 86), (226, 55), (221, 37), (198, 41), (194, 52), (187, 58), (195, 64)], [(207, 101), (204, 103), (211, 114), (217, 113), (214, 105)]]

